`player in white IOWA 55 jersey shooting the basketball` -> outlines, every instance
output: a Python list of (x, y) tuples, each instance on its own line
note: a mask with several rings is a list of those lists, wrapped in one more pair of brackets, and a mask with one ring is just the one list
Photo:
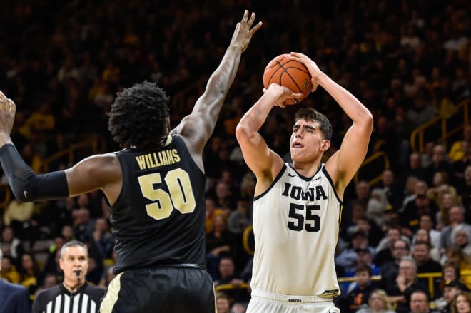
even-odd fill
[(290, 139), (292, 164), (268, 148), (258, 130), (273, 106), (303, 95), (271, 84), (241, 118), (236, 136), (245, 163), (257, 177), (253, 199), (255, 255), (250, 282), (253, 312), (339, 312), (333, 297), (340, 294), (334, 265), (345, 187), (363, 162), (373, 129), (373, 116), (302, 53), (290, 53), (338, 102), (353, 124), (340, 149), (326, 162), (332, 127), (312, 108), (295, 116)]

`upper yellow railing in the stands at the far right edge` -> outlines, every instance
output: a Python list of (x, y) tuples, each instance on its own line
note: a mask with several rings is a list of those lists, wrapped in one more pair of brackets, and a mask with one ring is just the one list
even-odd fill
[[(440, 130), (441, 135), (439, 138), (435, 139), (435, 142), (442, 143), (447, 148), (447, 140), (460, 132), (463, 129), (464, 125), (468, 124), (469, 119), (469, 111), (468, 111), (468, 100), (462, 101), (455, 107), (455, 113), (451, 116), (437, 116), (436, 118), (432, 118), (427, 123), (420, 125), (419, 127), (412, 130), (410, 134), (410, 147), (413, 151), (418, 151), (423, 153), (425, 151), (425, 132), (430, 130), (430, 128), (436, 126), (440, 123)], [(462, 116), (462, 124), (459, 125), (449, 125), (448, 120), (452, 117)], [(452, 126), (449, 130), (448, 126)]]

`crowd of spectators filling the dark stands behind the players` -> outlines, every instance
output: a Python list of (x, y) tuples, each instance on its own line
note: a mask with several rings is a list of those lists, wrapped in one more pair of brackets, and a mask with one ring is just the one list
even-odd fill
[[(154, 81), (175, 100), (183, 95), (171, 108), (172, 120), (180, 120), (201, 93), (198, 82), (216, 68), (238, 12), (250, 9), (264, 24), (243, 54), (204, 152), (208, 271), (216, 287), (239, 287), (218, 291), (218, 312), (245, 312), (250, 299), (251, 255), (243, 232), (251, 225), (255, 178), (243, 163), (235, 127), (262, 92), (265, 64), (289, 51), (311, 56), (365, 103), (375, 118), (368, 155), (383, 151), (390, 161), (374, 173), (379, 183), (360, 177), (345, 192), (335, 263), (338, 277), (354, 281), (340, 284), (336, 304), (360, 313), (422, 312), (423, 304), (457, 312), (457, 302), (469, 307), (471, 273), (462, 273), (471, 270), (471, 124), (462, 125), (453, 113), (471, 95), (470, 2), (181, 2), (2, 5), (0, 90), (16, 102), (11, 135), (31, 168), (40, 172), (41, 160), (93, 134), (105, 139), (107, 150), (121, 148), (108, 134), (106, 113), (116, 92), (133, 83)], [(322, 90), (303, 105), (330, 118), (334, 152), (350, 121)], [(288, 162), (294, 107), (273, 110), (261, 130)], [(413, 150), (412, 130), (437, 116), (462, 125), (460, 132), (439, 142), (440, 128), (431, 128), (425, 151)], [(59, 158), (49, 170), (70, 165)], [(88, 245), (88, 282), (106, 287), (113, 278), (113, 235), (101, 193), (34, 203), (11, 199), (0, 212), (0, 277), (24, 285), (31, 299), (61, 282), (58, 252), (69, 240)], [(38, 240), (49, 242), (41, 262)], [(430, 272), (442, 273), (432, 290), (417, 278)]]

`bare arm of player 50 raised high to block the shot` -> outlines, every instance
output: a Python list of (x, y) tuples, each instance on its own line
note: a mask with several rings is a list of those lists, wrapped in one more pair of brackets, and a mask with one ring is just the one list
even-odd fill
[(180, 133), (183, 136), (193, 155), (201, 153), (211, 137), (224, 98), (236, 77), (240, 56), (248, 47), (253, 34), (262, 26), (261, 22), (253, 26), (254, 21), (255, 13), (249, 16), (248, 11), (245, 11), (233, 33), (231, 44), (218, 68), (211, 74), (203, 95), (196, 101), (191, 114), (171, 131), (171, 134)]

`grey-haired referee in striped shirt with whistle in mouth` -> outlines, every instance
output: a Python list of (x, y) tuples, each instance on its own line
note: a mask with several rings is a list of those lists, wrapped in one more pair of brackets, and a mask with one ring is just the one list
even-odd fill
[(44, 289), (35, 297), (33, 313), (98, 313), (105, 289), (85, 282), (88, 270), (88, 249), (79, 241), (67, 242), (61, 248), (59, 267), (64, 282)]

